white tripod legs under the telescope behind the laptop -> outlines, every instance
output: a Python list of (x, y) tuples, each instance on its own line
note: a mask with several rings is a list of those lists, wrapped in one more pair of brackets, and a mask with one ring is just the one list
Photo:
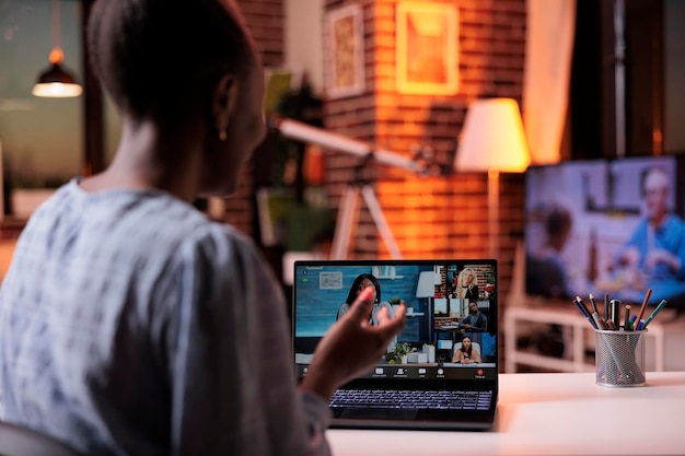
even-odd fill
[(367, 208), (371, 213), (373, 223), (375, 224), (379, 234), (385, 242), (391, 257), (395, 259), (402, 258), (402, 253), (393, 236), (393, 232), (385, 220), (383, 209), (375, 195), (373, 187), (368, 180), (363, 180), (359, 177), (361, 168), (369, 161), (371, 154), (363, 157), (356, 167), (356, 179), (344, 191), (340, 199), (340, 208), (338, 209), (338, 218), (336, 220), (335, 234), (333, 236), (333, 246), (330, 249), (330, 259), (345, 259), (349, 252), (349, 245), (352, 234), (355, 234), (353, 227), (359, 222), (360, 198), (367, 203)]

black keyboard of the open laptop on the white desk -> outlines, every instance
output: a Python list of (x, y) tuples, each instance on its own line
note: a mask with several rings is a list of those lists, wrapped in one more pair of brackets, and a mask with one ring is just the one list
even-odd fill
[(329, 407), (488, 410), (492, 391), (338, 389)]

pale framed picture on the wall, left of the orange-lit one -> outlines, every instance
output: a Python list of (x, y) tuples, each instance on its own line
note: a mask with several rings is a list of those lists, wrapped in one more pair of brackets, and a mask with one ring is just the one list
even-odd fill
[(360, 4), (332, 10), (326, 15), (326, 95), (329, 98), (364, 92), (363, 11)]

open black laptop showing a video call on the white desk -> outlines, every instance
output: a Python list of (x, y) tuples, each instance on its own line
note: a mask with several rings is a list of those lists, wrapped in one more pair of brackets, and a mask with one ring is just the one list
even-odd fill
[[(468, 291), (458, 287), (466, 276), (472, 276)], [(345, 314), (347, 302), (370, 285), (376, 290), (374, 309), (394, 312), (404, 302), (407, 323), (373, 369), (335, 391), (332, 426), (492, 428), (499, 373), (494, 259), (295, 261), (292, 342), (298, 378), (307, 374), (316, 344)], [(477, 309), (469, 308), (473, 301)], [(476, 320), (486, 327), (464, 325)], [(461, 358), (455, 356), (460, 349)]]

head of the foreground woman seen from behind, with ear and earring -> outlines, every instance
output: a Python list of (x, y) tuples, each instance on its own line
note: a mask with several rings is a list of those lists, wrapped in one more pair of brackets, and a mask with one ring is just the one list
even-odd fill
[(264, 138), (259, 57), (231, 0), (97, 0), (92, 63), (133, 128), (185, 131), (201, 194), (230, 192)]

